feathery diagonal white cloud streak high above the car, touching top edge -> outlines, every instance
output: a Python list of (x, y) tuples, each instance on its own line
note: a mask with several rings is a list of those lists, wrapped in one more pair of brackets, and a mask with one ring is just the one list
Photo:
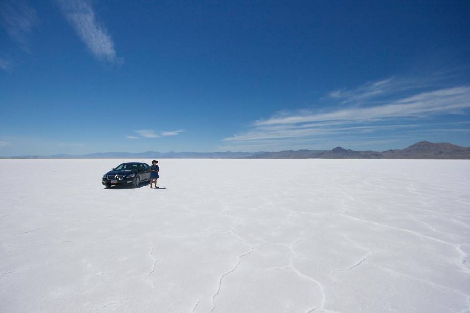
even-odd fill
[(58, 0), (63, 14), (92, 54), (101, 61), (119, 63), (114, 42), (86, 0)]

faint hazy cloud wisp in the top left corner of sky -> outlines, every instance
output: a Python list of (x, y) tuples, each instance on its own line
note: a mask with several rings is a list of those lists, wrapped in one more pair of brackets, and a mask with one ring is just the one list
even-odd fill
[(26, 0), (5, 0), (0, 2), (0, 18), (10, 38), (30, 52), (30, 35), (39, 23), (36, 10)]

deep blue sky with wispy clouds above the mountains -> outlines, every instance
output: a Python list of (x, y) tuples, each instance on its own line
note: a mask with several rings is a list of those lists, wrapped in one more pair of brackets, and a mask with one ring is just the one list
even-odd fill
[(470, 146), (470, 2), (0, 2), (0, 155)]

